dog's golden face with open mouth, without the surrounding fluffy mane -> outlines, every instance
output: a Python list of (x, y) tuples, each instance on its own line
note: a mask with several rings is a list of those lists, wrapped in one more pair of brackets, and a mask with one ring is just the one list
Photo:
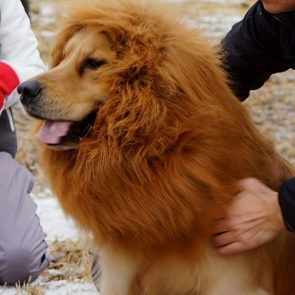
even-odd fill
[(27, 113), (44, 121), (37, 138), (55, 149), (71, 149), (87, 135), (108, 99), (104, 72), (116, 53), (106, 34), (85, 25), (60, 33), (52, 57), (52, 69), (18, 91)]

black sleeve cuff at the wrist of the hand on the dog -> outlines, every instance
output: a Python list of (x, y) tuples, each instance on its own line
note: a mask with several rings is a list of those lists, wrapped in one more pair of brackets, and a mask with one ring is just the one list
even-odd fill
[(295, 232), (295, 178), (286, 180), (279, 188), (279, 206), (286, 229)]

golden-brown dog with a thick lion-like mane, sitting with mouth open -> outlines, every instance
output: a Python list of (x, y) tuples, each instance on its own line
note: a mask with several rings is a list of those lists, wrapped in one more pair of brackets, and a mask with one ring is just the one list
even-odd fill
[(295, 172), (196, 29), (143, 1), (81, 1), (52, 68), (18, 90), (52, 190), (99, 247), (102, 295), (295, 294), (294, 235), (211, 245), (238, 179), (277, 190)]

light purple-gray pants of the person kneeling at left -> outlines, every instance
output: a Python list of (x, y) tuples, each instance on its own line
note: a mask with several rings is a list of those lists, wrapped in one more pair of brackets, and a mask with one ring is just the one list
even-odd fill
[[(1, 130), (1, 128), (0, 128)], [(1, 133), (0, 133), (1, 147)], [(30, 197), (33, 176), (0, 152), (0, 284), (34, 280), (50, 262), (45, 233)]]

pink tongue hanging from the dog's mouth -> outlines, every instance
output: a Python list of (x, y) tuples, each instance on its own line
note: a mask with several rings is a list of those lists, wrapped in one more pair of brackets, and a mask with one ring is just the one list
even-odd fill
[(36, 134), (36, 138), (46, 145), (60, 143), (60, 138), (67, 135), (72, 121), (45, 121)]

